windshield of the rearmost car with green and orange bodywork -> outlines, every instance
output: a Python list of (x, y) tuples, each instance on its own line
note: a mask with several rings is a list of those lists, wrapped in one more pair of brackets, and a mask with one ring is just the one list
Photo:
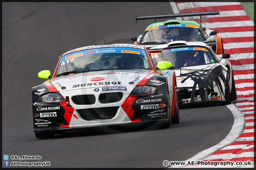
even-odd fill
[[(186, 24), (180, 24), (185, 25)], [(168, 25), (169, 26), (169, 25)], [(168, 27), (166, 26), (166, 27)], [(183, 41), (203, 41), (199, 28), (177, 27), (177, 28), (162, 28), (146, 30), (140, 44), (166, 44), (168, 42), (183, 40)], [(158, 43), (156, 43), (158, 42)]]

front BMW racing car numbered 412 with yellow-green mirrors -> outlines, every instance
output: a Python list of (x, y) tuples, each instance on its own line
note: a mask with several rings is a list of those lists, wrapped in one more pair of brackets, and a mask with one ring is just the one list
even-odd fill
[[(168, 64), (169, 63), (169, 64)], [(180, 121), (175, 72), (166, 77), (143, 46), (85, 46), (65, 52), (49, 79), (32, 88), (37, 138), (96, 126), (137, 126)], [(161, 124), (160, 124), (161, 125)]]

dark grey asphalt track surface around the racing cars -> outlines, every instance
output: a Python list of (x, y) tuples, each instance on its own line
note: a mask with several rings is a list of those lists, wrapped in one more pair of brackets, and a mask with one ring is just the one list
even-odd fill
[(2, 155), (40, 155), (40, 160), (9, 162), (50, 162), (44, 168), (165, 168), (164, 160), (184, 161), (222, 141), (234, 117), (218, 104), (182, 107), (180, 123), (168, 129), (102, 128), (46, 140), (34, 136), (31, 89), (45, 81), (37, 77), (39, 71), (53, 72), (59, 56), (77, 47), (104, 40), (133, 43), (129, 38), (154, 22), (136, 24), (136, 15), (171, 11), (168, 2), (3, 2)]

